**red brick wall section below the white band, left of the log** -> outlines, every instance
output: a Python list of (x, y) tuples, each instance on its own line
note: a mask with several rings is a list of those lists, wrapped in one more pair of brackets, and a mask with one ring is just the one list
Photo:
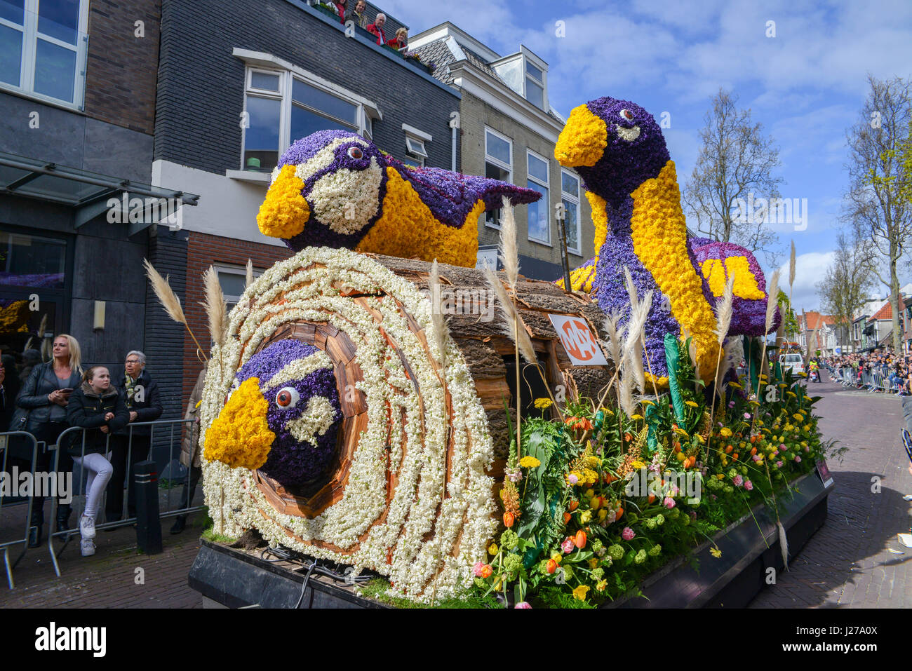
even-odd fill
[[(200, 305), (204, 299), (202, 288), (202, 274), (213, 264), (227, 264), (244, 266), (247, 259), (254, 263), (254, 270), (264, 271), (277, 261), (284, 261), (292, 255), (287, 247), (276, 247), (271, 244), (249, 243), (243, 240), (223, 238), (218, 235), (190, 232), (187, 244), (187, 299), (183, 302), (184, 314), (190, 324), (193, 334), (199, 338), (203, 347), (210, 344), (209, 326), (206, 311)], [(186, 405), (187, 399), (196, 377), (202, 370), (202, 364), (196, 356), (196, 345), (184, 330), (183, 343), (183, 387), (182, 403)], [(209, 352), (206, 352), (207, 356)]]

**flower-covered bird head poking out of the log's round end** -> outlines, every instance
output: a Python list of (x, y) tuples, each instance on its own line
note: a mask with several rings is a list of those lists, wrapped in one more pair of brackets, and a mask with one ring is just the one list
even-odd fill
[(333, 364), (297, 340), (266, 346), (234, 376), (206, 431), (206, 459), (261, 470), (287, 490), (322, 485), (342, 418)]

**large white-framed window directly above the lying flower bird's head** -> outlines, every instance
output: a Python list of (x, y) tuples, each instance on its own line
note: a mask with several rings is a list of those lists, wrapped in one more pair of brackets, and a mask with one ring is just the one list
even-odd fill
[(245, 90), (242, 170), (273, 170), (295, 140), (317, 130), (351, 130), (371, 139), (364, 99), (309, 73), (251, 67)]

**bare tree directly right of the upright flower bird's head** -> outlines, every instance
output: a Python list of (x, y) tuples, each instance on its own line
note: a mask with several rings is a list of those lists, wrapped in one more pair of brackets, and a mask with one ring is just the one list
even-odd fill
[(773, 177), (772, 170), (780, 165), (779, 149), (763, 135), (761, 124), (751, 123), (750, 109), (736, 108), (737, 101), (723, 88), (712, 98), (700, 130), (703, 146), (683, 201), (698, 231), (772, 256), (778, 236), (767, 225), (768, 217), (740, 212), (739, 205), (778, 198), (782, 178)]

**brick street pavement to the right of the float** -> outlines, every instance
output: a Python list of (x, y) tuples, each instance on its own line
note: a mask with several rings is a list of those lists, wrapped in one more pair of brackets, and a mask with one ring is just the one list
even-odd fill
[[(829, 375), (824, 372), (829, 380)], [(901, 399), (809, 383), (824, 438), (847, 447), (827, 466), (835, 480), (824, 527), (790, 560), (751, 608), (902, 608), (912, 605), (912, 549), (896, 540), (909, 532), (912, 493), (899, 438)], [(894, 552), (890, 552), (890, 551)], [(900, 553), (895, 553), (900, 552)]]

